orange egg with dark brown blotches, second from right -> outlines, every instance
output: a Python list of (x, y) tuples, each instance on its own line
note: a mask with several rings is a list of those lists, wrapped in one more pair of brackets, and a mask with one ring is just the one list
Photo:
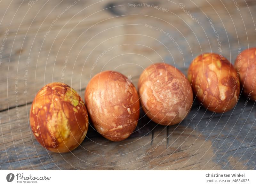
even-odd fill
[(234, 108), (240, 93), (240, 81), (233, 65), (223, 56), (204, 53), (188, 69), (188, 80), (201, 105), (212, 112)]

